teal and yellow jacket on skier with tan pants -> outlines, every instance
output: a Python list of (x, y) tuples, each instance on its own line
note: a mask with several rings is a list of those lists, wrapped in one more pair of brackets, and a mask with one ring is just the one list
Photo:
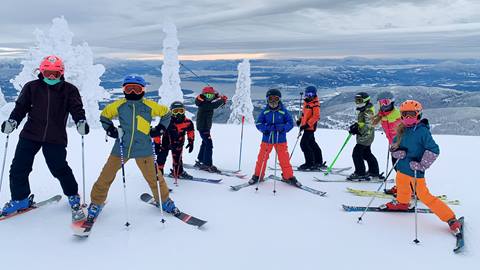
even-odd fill
[[(100, 122), (105, 130), (113, 125), (112, 120), (118, 118), (123, 135), (123, 156), (125, 159), (147, 157), (153, 155), (150, 124), (155, 117), (161, 117), (160, 123), (168, 127), (170, 110), (148, 99), (119, 99), (103, 109)], [(115, 140), (112, 155), (120, 156), (120, 138)]]

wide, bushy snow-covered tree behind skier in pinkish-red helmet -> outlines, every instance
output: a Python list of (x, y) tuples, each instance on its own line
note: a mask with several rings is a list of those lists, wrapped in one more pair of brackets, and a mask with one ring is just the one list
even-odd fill
[(109, 97), (100, 86), (105, 67), (93, 63), (93, 52), (86, 42), (72, 44), (73, 33), (64, 17), (54, 18), (48, 32), (36, 29), (34, 34), (35, 46), (29, 48), (22, 71), (10, 82), (20, 91), (25, 83), (37, 79), (38, 66), (45, 56), (57, 55), (65, 64), (65, 80), (80, 91), (90, 126), (100, 127), (98, 101)]

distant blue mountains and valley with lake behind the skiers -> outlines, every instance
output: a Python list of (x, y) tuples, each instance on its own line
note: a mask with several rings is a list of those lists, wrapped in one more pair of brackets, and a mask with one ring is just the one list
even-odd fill
[[(161, 84), (161, 61), (123, 61), (97, 59), (105, 65), (101, 85), (112, 91), (119, 88), (126, 74), (144, 76), (157, 99)], [(209, 83), (231, 96), (235, 90), (239, 61), (182, 61), (180, 75), (189, 110), (196, 110), (192, 93)], [(252, 99), (255, 114), (264, 105), (269, 87), (279, 87), (292, 110), (298, 110), (298, 93), (307, 85), (316, 85), (322, 99), (321, 127), (346, 128), (354, 116), (355, 92), (366, 91), (373, 97), (390, 90), (397, 103), (418, 99), (424, 104), (434, 133), (480, 135), (480, 60), (437, 59), (296, 59), (251, 60)], [(10, 84), (21, 70), (19, 60), (0, 60), (0, 87), (7, 101), (15, 99)], [(192, 72), (193, 71), (193, 72)], [(195, 73), (195, 74), (193, 74)], [(115, 97), (116, 95), (114, 95)], [(108, 102), (108, 101), (105, 101)], [(104, 102), (102, 102), (104, 103)], [(226, 122), (230, 109), (219, 110), (215, 121)]]

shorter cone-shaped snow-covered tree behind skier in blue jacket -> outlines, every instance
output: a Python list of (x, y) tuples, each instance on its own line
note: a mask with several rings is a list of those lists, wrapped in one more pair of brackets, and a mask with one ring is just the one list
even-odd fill
[(252, 79), (250, 78), (250, 62), (244, 59), (238, 64), (238, 79), (235, 95), (232, 98), (232, 113), (228, 119), (230, 124), (241, 124), (242, 116), (245, 116), (245, 122), (252, 124), (253, 119), (253, 104), (250, 97), (250, 88)]

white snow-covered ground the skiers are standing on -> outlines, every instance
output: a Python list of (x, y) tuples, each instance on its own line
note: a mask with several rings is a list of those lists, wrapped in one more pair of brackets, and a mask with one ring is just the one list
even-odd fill
[[(214, 162), (219, 167), (238, 166), (240, 126), (214, 125)], [(69, 130), (69, 164), (81, 182), (80, 136)], [(293, 147), (297, 130), (289, 134)], [(317, 141), (324, 158), (331, 161), (347, 136), (345, 131), (318, 130)], [(0, 193), (3, 204), (9, 199), (8, 167), (18, 138), (10, 139), (7, 172)], [(480, 137), (439, 136), (439, 160), (427, 173), (433, 194), (447, 194), (461, 200), (454, 210), (466, 217), (466, 249), (455, 255), (455, 239), (446, 224), (432, 214), (419, 215), (419, 245), (414, 239), (412, 214), (367, 213), (357, 224), (358, 213), (346, 213), (341, 204), (365, 205), (369, 198), (345, 192), (346, 187), (376, 189), (378, 184), (318, 183), (314, 173), (297, 173), (302, 183), (323, 191), (318, 197), (283, 183), (267, 181), (255, 192), (253, 187), (232, 192), (229, 186), (242, 183), (238, 178), (224, 178), (219, 185), (182, 181), (173, 188), (172, 198), (187, 213), (208, 220), (198, 230), (167, 216), (160, 223), (159, 210), (139, 200), (148, 190), (134, 162), (126, 166), (129, 230), (125, 223), (121, 174), (112, 185), (107, 205), (88, 239), (72, 236), (67, 201), (41, 208), (0, 222), (1, 269), (478, 269), (480, 226), (476, 179)], [(5, 137), (0, 145), (3, 147)], [(87, 193), (96, 180), (113, 140), (104, 140), (102, 130), (86, 136)], [(184, 154), (193, 163), (198, 153), (197, 139), (193, 154)], [(249, 175), (260, 143), (254, 126), (245, 129), (242, 169)], [(351, 141), (337, 166), (351, 166)], [(377, 134), (373, 151), (385, 168), (386, 139)], [(2, 148), (3, 153), (3, 148)], [(270, 164), (273, 164), (273, 154)], [(293, 164), (303, 156), (298, 148)], [(168, 161), (170, 164), (170, 160)], [(197, 176), (207, 173), (191, 171)], [(273, 173), (273, 172), (272, 172)], [(216, 177), (216, 175), (211, 175)], [(39, 153), (30, 176), (37, 200), (61, 194), (56, 180), (48, 172)], [(170, 180), (167, 180), (171, 183)], [(80, 189), (81, 190), (81, 189)], [(89, 197), (87, 197), (87, 202)], [(377, 199), (374, 205), (383, 203)], [(477, 265), (475, 267), (475, 265)]]

